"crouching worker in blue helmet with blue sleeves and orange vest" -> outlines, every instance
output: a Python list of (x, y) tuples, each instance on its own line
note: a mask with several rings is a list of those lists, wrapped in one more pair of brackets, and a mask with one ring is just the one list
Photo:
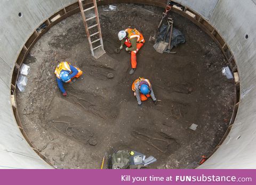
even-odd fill
[(71, 65), (69, 62), (61, 62), (57, 65), (54, 73), (56, 74), (57, 83), (62, 95), (67, 96), (67, 91), (64, 89), (63, 83), (69, 83), (74, 78), (79, 78), (83, 71)]

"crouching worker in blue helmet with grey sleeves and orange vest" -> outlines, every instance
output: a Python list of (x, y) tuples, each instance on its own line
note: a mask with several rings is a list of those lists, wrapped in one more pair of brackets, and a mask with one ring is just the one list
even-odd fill
[(141, 106), (141, 101), (146, 101), (149, 97), (153, 99), (154, 104), (157, 104), (157, 99), (154, 95), (151, 83), (148, 79), (138, 78), (132, 83), (132, 91), (137, 98), (138, 105)]

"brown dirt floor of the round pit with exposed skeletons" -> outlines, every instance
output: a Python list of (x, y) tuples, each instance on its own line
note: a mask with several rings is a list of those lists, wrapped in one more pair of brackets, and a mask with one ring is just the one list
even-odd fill
[[(17, 90), (29, 139), (60, 169), (99, 169), (103, 154), (113, 153), (111, 147), (157, 158), (148, 168), (196, 167), (200, 156), (218, 145), (233, 110), (234, 84), (221, 73), (227, 66), (224, 56), (209, 36), (175, 13), (170, 17), (186, 44), (173, 49), (177, 54), (159, 54), (148, 39), (163, 9), (117, 4), (116, 11), (103, 11), (107, 7), (99, 7), (106, 54), (98, 60), (91, 56), (79, 13), (52, 27), (31, 49), (25, 61), (30, 66), (26, 91)], [(128, 74), (130, 54), (124, 49), (114, 53), (118, 31), (129, 26), (146, 40), (133, 75)], [(84, 72), (65, 84), (68, 97), (62, 97), (54, 74), (60, 61)], [(107, 78), (110, 72), (113, 79)], [(161, 100), (156, 106), (151, 99), (138, 106), (131, 90), (138, 77), (152, 83)], [(196, 131), (189, 129), (192, 123)], [(90, 139), (97, 145), (90, 145)]]

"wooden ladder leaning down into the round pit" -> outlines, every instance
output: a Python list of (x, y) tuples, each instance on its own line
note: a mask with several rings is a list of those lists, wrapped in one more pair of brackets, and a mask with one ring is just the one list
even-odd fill
[[(87, 38), (88, 38), (88, 41), (89, 41), (89, 45), (90, 45), (92, 56), (95, 59), (98, 59), (99, 57), (101, 57), (106, 52), (105, 52), (104, 47), (103, 47), (103, 40), (102, 40), (101, 29), (100, 29), (100, 20), (99, 20), (99, 13), (98, 13), (97, 2), (96, 2), (96, 0), (93, 0), (93, 6), (87, 8), (87, 9), (84, 9), (82, 1), (83, 0), (78, 0), (78, 3), (79, 3), (79, 6), (80, 6), (82, 18), (83, 18), (86, 35), (87, 35)], [(86, 19), (85, 12), (89, 11), (89, 10), (92, 10), (92, 9), (94, 9), (95, 15), (93, 15), (90, 18)], [(95, 24), (93, 24), (92, 26), (88, 27), (87, 21), (95, 22)], [(89, 30), (94, 28), (94, 27), (97, 27), (98, 31), (90, 34)], [(92, 36), (99, 36), (99, 38), (92, 41), (92, 39), (91, 39)], [(100, 43), (100, 45), (94, 47), (93, 45), (95, 45), (97, 43)]]

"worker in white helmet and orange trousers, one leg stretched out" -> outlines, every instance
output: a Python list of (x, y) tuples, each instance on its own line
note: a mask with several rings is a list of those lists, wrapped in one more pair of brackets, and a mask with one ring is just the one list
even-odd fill
[(127, 28), (126, 30), (119, 31), (118, 38), (119, 40), (122, 40), (120, 50), (123, 49), (123, 45), (125, 44), (127, 46), (125, 48), (126, 51), (131, 52), (132, 69), (130, 70), (129, 74), (133, 74), (137, 68), (136, 54), (145, 43), (145, 40), (142, 34), (135, 28)]

